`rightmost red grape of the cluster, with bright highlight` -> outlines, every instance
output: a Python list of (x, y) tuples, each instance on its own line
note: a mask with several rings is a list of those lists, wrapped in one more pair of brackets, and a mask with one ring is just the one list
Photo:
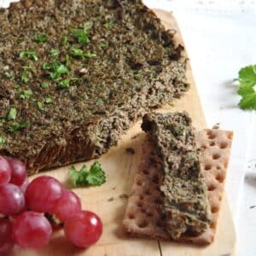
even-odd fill
[(90, 247), (102, 236), (102, 221), (93, 212), (77, 212), (64, 224), (67, 240), (78, 247)]

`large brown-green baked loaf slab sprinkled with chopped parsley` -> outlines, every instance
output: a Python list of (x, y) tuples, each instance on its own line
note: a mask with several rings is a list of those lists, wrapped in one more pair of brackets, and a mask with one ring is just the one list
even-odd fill
[(30, 173), (90, 160), (183, 95), (183, 47), (139, 0), (0, 9), (0, 154)]

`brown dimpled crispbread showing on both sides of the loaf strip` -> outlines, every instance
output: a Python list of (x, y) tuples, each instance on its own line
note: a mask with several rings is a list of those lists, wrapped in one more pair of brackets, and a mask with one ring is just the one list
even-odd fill
[[(224, 179), (230, 158), (232, 131), (203, 130), (197, 134), (201, 148), (201, 165), (206, 178), (208, 198), (212, 210), (211, 227), (200, 236), (181, 236), (178, 241), (207, 245), (213, 241), (218, 212), (224, 191)], [(143, 157), (131, 188), (131, 196), (125, 212), (124, 228), (131, 236), (143, 236), (171, 240), (164, 229), (161, 213), (163, 195), (160, 182), (163, 178), (160, 159), (156, 156), (150, 137), (143, 144)]]

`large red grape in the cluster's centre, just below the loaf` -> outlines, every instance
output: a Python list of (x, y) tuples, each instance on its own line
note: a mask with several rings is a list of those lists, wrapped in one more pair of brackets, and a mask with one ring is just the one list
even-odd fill
[(52, 212), (61, 194), (61, 183), (54, 177), (36, 177), (26, 188), (26, 205), (35, 212)]

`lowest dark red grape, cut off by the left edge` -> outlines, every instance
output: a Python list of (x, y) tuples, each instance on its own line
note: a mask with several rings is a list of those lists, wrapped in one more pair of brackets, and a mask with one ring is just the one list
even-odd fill
[(0, 256), (7, 255), (14, 245), (12, 224), (8, 218), (0, 218)]

